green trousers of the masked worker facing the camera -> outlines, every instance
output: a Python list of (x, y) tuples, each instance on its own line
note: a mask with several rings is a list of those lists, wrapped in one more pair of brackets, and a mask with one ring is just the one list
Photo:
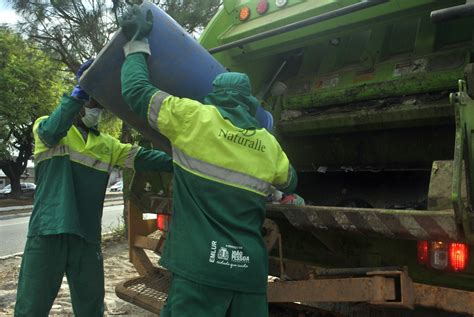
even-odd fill
[(64, 273), (74, 315), (103, 316), (104, 267), (99, 243), (74, 234), (28, 237), (21, 262), (15, 316), (48, 316)]

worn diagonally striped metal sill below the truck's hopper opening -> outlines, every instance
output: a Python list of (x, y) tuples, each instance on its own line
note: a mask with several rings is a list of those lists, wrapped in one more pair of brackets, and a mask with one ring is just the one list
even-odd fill
[(407, 240), (463, 241), (454, 211), (390, 210), (327, 206), (267, 205), (267, 216), (283, 214), (300, 230), (351, 232)]

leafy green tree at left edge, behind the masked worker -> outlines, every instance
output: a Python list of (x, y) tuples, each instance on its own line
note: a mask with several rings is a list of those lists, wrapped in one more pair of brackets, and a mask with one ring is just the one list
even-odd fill
[(33, 154), (33, 123), (51, 111), (64, 89), (60, 67), (30, 41), (0, 28), (0, 168), (12, 195)]

